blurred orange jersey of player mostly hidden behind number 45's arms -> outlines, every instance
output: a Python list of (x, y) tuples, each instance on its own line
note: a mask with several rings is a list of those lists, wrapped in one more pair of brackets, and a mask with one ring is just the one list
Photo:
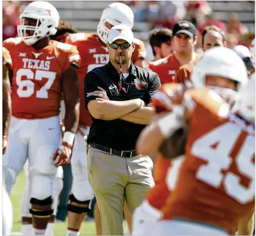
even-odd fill
[[(157, 96), (153, 98), (152, 104), (158, 113), (169, 112), (174, 105), (181, 103), (184, 92), (185, 87), (180, 84), (163, 84), (157, 94), (155, 94)], [(165, 205), (166, 199), (170, 194), (166, 183), (166, 177), (170, 168), (171, 161), (166, 160), (160, 153), (157, 153), (153, 173), (155, 186), (150, 188), (147, 194), (147, 201), (158, 210), (161, 210)]]

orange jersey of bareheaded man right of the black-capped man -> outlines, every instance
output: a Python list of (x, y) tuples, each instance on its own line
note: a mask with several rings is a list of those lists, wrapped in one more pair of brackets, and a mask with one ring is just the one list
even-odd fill
[(196, 59), (188, 62), (185, 65), (182, 65), (179, 70), (177, 70), (176, 75), (174, 77), (174, 83), (182, 83), (185, 84), (185, 81), (188, 79), (190, 80), (190, 74), (193, 70), (193, 66), (200, 60), (200, 58), (203, 55), (201, 54), (196, 54)]

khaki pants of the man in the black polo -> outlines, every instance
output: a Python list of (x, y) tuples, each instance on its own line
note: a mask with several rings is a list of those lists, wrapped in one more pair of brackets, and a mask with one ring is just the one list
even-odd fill
[(131, 215), (154, 185), (147, 156), (123, 158), (89, 147), (88, 179), (101, 213), (103, 235), (123, 235), (123, 201)]

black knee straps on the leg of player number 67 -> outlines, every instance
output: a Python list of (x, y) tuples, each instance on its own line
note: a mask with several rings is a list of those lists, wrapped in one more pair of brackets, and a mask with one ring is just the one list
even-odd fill
[(53, 213), (53, 210), (37, 210), (33, 208), (33, 205), (52, 205), (52, 197), (47, 197), (44, 200), (39, 200), (31, 197), (30, 203), (32, 204), (31, 209), (29, 209), (29, 213), (31, 215), (36, 216), (38, 218), (47, 218), (50, 217)]

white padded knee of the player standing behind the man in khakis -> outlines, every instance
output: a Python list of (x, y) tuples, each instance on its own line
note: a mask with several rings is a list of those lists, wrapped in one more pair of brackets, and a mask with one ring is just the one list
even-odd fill
[(74, 181), (72, 184), (72, 194), (76, 197), (78, 201), (90, 201), (94, 197), (93, 188), (91, 188), (87, 177), (82, 181)]

